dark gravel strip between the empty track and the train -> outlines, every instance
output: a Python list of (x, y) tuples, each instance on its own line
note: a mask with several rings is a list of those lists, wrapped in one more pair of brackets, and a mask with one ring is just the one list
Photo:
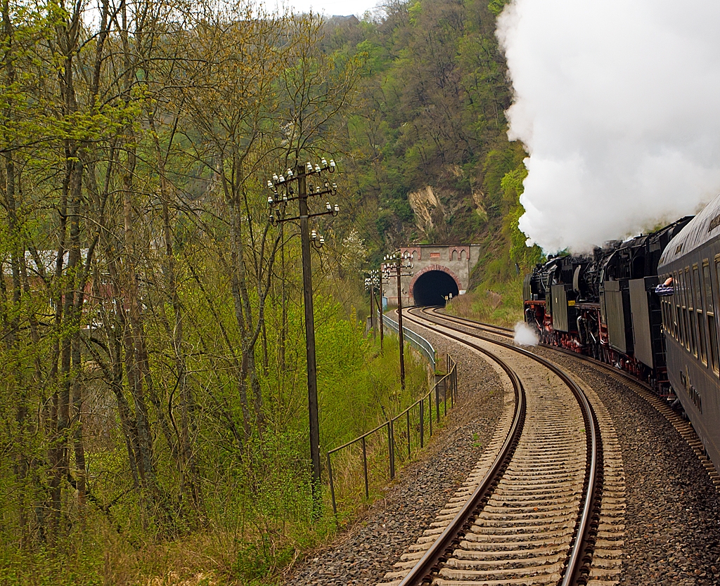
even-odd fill
[(590, 384), (613, 418), (627, 503), (620, 583), (719, 584), (720, 494), (690, 446), (623, 384), (569, 356), (537, 351)]

